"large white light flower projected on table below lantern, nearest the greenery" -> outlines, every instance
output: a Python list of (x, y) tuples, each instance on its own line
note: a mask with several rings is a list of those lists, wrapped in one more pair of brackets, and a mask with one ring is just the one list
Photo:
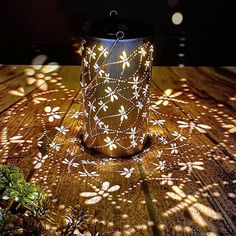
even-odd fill
[[(95, 187), (95, 186), (94, 186)], [(119, 185), (114, 185), (110, 187), (110, 183), (108, 181), (102, 184), (101, 189), (95, 187), (95, 192), (83, 192), (80, 193), (81, 197), (89, 198), (85, 201), (85, 204), (96, 204), (102, 200), (102, 198), (106, 198), (110, 195), (111, 192), (115, 192), (120, 189)]]

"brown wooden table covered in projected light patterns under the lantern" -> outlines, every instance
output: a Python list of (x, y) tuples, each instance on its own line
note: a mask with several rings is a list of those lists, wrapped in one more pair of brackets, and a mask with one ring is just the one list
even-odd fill
[(80, 67), (30, 68), (0, 69), (0, 160), (43, 186), (58, 216), (79, 203), (112, 235), (236, 235), (232, 72), (154, 67), (150, 141), (116, 159), (81, 144)]

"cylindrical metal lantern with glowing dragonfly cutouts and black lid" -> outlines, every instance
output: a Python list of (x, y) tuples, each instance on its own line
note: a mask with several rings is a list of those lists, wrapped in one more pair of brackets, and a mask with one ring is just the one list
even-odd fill
[(83, 141), (106, 156), (140, 152), (147, 139), (153, 46), (149, 26), (109, 17), (85, 38)]

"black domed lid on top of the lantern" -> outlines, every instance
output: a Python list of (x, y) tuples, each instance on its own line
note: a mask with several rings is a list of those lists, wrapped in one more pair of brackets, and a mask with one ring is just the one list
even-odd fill
[(88, 27), (87, 35), (116, 39), (117, 32), (124, 33), (122, 39), (144, 38), (152, 35), (152, 28), (148, 23), (141, 20), (112, 16), (91, 23)]

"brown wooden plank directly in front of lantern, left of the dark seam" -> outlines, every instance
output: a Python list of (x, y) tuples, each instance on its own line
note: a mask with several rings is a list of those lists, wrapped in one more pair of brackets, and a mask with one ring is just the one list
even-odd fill
[[(84, 151), (78, 139), (82, 117), (73, 118), (76, 112), (82, 111), (81, 95), (75, 101), (60, 124), (68, 129), (68, 133), (63, 135), (57, 132), (52, 140), (60, 144), (60, 150), (56, 152), (53, 148), (48, 149), (49, 158), (32, 180), (45, 187), (49, 186), (48, 191), (58, 200), (58, 212), (61, 205), (85, 204), (92, 215), (98, 213), (94, 220), (105, 224), (112, 232), (142, 232), (143, 235), (154, 232), (155, 235), (158, 229), (152, 225), (146, 206), (142, 203), (146, 199), (143, 194), (144, 180), (140, 179), (136, 162), (132, 158), (106, 158), (86, 149)], [(78, 140), (73, 143), (71, 137)], [(132, 169), (131, 178), (121, 175), (124, 168)], [(94, 186), (101, 188), (107, 182), (110, 187), (119, 186), (119, 189), (111, 191), (109, 197), (102, 197), (96, 204), (86, 204), (86, 200), (92, 197), (82, 197), (81, 193), (94, 192)], [(67, 192), (73, 192), (73, 196)]]

